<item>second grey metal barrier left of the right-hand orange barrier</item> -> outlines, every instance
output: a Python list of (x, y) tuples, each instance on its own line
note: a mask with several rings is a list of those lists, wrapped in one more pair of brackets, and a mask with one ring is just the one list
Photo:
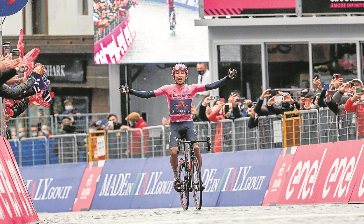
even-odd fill
[(235, 150), (252, 150), (258, 149), (257, 131), (254, 127), (250, 129), (248, 127), (250, 117), (237, 118), (234, 120), (235, 128)]

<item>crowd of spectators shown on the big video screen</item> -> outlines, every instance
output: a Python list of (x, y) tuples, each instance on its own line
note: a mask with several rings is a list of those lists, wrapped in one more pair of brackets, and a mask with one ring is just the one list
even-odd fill
[(118, 26), (130, 7), (138, 5), (134, 0), (94, 0), (93, 19), (95, 41), (100, 40)]

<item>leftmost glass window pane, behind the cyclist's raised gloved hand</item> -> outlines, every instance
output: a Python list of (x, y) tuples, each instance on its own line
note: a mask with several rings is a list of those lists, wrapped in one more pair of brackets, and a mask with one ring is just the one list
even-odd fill
[(241, 97), (256, 101), (262, 93), (261, 45), (220, 45), (217, 51), (219, 78), (225, 77), (229, 68), (238, 71), (234, 82), (220, 88), (220, 97), (227, 99), (232, 91), (238, 91)]

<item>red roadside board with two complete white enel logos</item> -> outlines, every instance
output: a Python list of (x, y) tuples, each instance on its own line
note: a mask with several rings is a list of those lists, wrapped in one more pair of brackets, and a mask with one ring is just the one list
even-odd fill
[(363, 148), (364, 140), (298, 146), (277, 204), (348, 203), (363, 175)]

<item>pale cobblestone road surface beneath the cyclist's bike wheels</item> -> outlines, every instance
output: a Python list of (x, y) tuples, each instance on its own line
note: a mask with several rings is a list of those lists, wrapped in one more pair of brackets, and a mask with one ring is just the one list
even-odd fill
[(41, 223), (364, 223), (364, 204), (203, 207), (39, 213)]

